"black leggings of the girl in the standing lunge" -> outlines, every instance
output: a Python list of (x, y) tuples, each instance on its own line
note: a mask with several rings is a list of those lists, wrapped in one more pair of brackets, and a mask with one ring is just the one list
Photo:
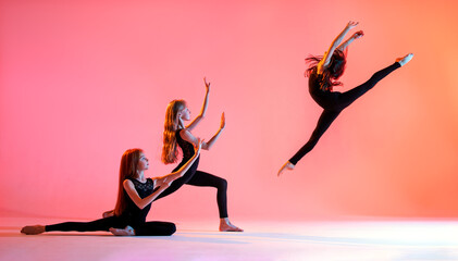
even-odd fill
[[(218, 189), (216, 202), (218, 210), (220, 212), (220, 219), (227, 217), (227, 181), (206, 172), (197, 171), (199, 159), (197, 159), (196, 162), (194, 162), (194, 164), (182, 177), (174, 181), (169, 188), (161, 192), (161, 195), (159, 195), (159, 197), (156, 198), (154, 201), (173, 194), (184, 184), (199, 187), (215, 187)], [(173, 171), (177, 171), (181, 166), (182, 164), (176, 166)]]

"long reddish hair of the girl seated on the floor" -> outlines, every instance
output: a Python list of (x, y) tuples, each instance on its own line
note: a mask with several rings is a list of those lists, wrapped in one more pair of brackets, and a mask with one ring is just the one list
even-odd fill
[(120, 165), (120, 185), (117, 189), (117, 201), (116, 207), (114, 207), (114, 215), (121, 215), (125, 208), (127, 207), (127, 198), (124, 192), (123, 183), (126, 178), (136, 178), (137, 177), (137, 166), (140, 160), (140, 154), (144, 151), (141, 149), (128, 149), (124, 152), (121, 158)]

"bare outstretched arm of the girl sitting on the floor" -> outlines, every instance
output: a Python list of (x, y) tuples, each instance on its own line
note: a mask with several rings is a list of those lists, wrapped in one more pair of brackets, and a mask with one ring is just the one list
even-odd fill
[(193, 163), (196, 161), (197, 157), (199, 157), (201, 146), (202, 146), (202, 141), (200, 139), (198, 139), (197, 145), (195, 146), (195, 153), (194, 153), (193, 158), (190, 158), (186, 162), (186, 164), (184, 164), (178, 171), (156, 179), (154, 185), (160, 186), (159, 189), (156, 190), (154, 192), (152, 192), (151, 195), (145, 197), (145, 198), (140, 198), (140, 196), (138, 195), (137, 190), (135, 189), (134, 183), (132, 181), (125, 179), (124, 183), (123, 183), (123, 187), (124, 187), (125, 191), (127, 192), (128, 197), (132, 199), (132, 201), (134, 201), (134, 203), (139, 209), (144, 209), (145, 207), (147, 207), (161, 192), (163, 192), (172, 184), (173, 181), (183, 176), (184, 173), (186, 173), (186, 171), (190, 167), (190, 165), (193, 165)]

